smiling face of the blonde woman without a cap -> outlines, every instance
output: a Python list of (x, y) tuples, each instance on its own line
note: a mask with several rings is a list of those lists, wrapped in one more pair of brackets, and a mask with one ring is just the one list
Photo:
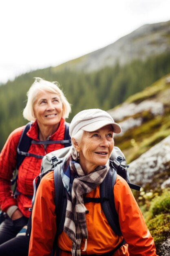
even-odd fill
[(33, 111), (39, 126), (59, 124), (62, 118), (62, 102), (59, 95), (47, 91), (38, 92)]

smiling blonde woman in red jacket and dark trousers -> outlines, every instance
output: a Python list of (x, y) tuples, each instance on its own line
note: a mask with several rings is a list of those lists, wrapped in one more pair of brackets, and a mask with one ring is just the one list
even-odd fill
[(29, 240), (18, 232), (30, 216), (33, 179), (40, 173), (42, 162), (39, 156), (64, 148), (61, 141), (64, 140), (65, 118), (71, 112), (71, 106), (58, 85), (36, 78), (27, 93), (23, 116), (32, 121), (32, 125), (26, 136), (38, 143), (47, 141), (51, 144), (31, 144), (28, 153), (33, 155), (26, 156), (18, 169), (16, 198), (11, 193), (11, 178), (16, 169), (17, 148), (24, 126), (9, 135), (0, 153), (0, 208), (6, 213), (6, 219), (0, 225), (0, 255), (3, 256), (28, 255)]

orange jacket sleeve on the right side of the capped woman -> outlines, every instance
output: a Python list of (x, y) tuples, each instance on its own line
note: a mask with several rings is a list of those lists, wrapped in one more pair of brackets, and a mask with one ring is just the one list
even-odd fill
[(156, 256), (154, 240), (127, 182), (117, 175), (115, 207), (130, 256)]

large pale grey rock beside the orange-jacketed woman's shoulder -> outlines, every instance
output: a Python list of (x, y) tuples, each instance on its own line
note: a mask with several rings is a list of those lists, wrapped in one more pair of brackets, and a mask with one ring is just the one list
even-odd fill
[(170, 136), (130, 163), (130, 182), (148, 189), (170, 186)]

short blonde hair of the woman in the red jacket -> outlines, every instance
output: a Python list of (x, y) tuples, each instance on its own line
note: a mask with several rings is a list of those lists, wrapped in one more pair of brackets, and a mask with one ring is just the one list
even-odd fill
[(64, 93), (62, 90), (60, 90), (60, 83), (56, 82), (49, 82), (42, 78), (35, 77), (34, 83), (29, 88), (29, 91), (27, 92), (27, 103), (26, 107), (23, 110), (23, 117), (27, 119), (28, 121), (35, 121), (35, 116), (33, 112), (33, 104), (36, 101), (37, 94), (40, 91), (47, 91), (56, 93), (59, 95), (61, 101), (62, 101), (62, 117), (68, 118), (70, 112), (71, 112), (71, 104), (68, 103), (66, 97), (64, 96)]

